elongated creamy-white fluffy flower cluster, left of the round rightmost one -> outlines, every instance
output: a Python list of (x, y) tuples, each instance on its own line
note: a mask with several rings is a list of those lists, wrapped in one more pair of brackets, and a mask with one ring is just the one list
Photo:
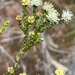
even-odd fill
[(44, 5), (43, 5), (43, 9), (47, 12), (47, 15), (46, 15), (47, 19), (50, 22), (54, 22), (54, 23), (58, 24), (58, 22), (60, 21), (59, 13), (54, 8), (52, 3), (45, 2)]

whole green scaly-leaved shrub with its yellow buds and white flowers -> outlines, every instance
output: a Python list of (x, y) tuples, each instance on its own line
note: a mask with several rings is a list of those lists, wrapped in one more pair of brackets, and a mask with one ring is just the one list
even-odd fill
[[(14, 63), (13, 67), (8, 67), (8, 70), (3, 75), (14, 75), (15, 71), (17, 70), (18, 63), (21, 57), (34, 45), (41, 43), (43, 38), (41, 38), (41, 33), (50, 29), (51, 27), (65, 22), (68, 23), (72, 19), (72, 12), (69, 10), (64, 10), (62, 15), (54, 8), (52, 3), (42, 2), (42, 0), (22, 0), (23, 6), (23, 17), (21, 15), (16, 16), (16, 20), (20, 29), (24, 33), (24, 39), (22, 43), (22, 47), (18, 55), (16, 55), (16, 62)], [(27, 16), (27, 6), (33, 7), (33, 15)], [(37, 6), (41, 6), (44, 10), (43, 13), (37, 12)], [(60, 18), (59, 18), (60, 17)], [(24, 19), (24, 25), (22, 25), (22, 19)], [(39, 24), (37, 25), (37, 21), (40, 20)], [(0, 28), (0, 34), (5, 30), (7, 25), (10, 21), (6, 21), (4, 25)], [(33, 31), (29, 33), (29, 29), (33, 28)], [(57, 75), (64, 75), (63, 70), (58, 69), (55, 71)], [(57, 73), (58, 72), (58, 73)], [(20, 75), (26, 75), (25, 73), (20, 73)]]

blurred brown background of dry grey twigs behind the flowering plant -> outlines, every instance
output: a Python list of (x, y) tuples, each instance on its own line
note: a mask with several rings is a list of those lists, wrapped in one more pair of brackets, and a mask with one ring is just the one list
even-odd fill
[[(70, 9), (75, 15), (75, 0), (43, 0), (52, 2), (61, 13)], [(39, 11), (42, 11), (40, 7)], [(9, 19), (10, 25), (0, 36), (0, 75), (12, 66), (19, 52), (23, 32), (15, 19), (22, 13), (21, 0), (0, 0), (0, 27)], [(32, 14), (28, 8), (28, 14)], [(25, 53), (15, 75), (55, 75), (56, 68), (62, 68), (66, 75), (75, 75), (75, 17), (69, 24), (59, 24), (42, 33), (44, 41)]]

